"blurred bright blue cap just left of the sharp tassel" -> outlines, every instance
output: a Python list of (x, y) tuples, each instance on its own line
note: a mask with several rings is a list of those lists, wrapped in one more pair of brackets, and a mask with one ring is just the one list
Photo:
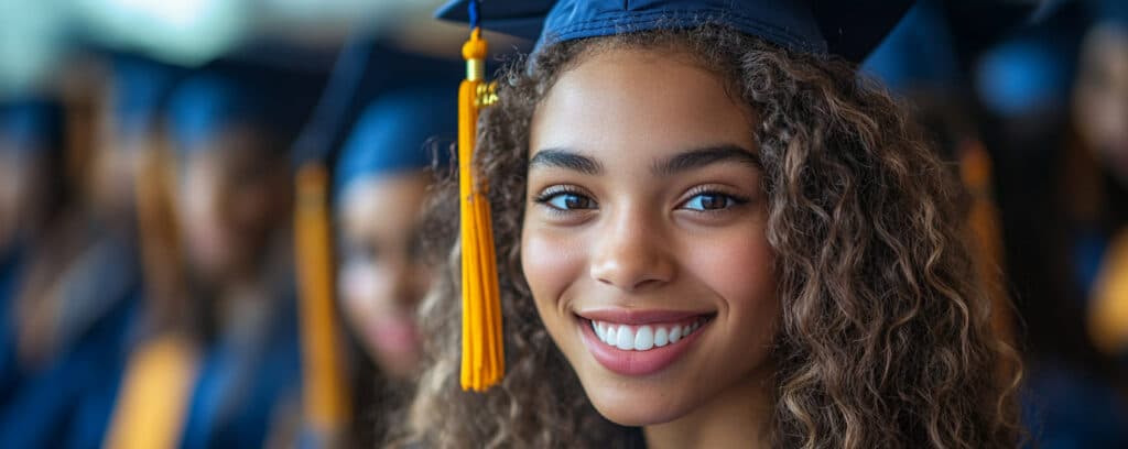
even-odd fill
[(452, 88), (424, 87), (379, 97), (345, 142), (334, 176), (336, 192), (365, 177), (447, 165), (458, 137), (457, 99)]

